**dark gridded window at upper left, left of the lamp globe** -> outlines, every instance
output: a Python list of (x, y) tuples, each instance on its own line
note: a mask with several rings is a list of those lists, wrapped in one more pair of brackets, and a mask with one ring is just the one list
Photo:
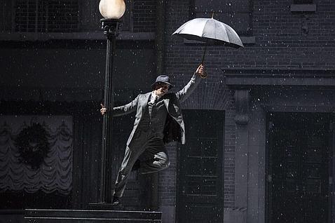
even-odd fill
[(15, 1), (15, 32), (76, 32), (78, 0)]

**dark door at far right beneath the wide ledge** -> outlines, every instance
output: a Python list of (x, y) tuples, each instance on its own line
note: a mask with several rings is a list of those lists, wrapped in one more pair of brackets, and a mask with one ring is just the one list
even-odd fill
[(327, 115), (281, 113), (270, 120), (271, 223), (328, 222)]

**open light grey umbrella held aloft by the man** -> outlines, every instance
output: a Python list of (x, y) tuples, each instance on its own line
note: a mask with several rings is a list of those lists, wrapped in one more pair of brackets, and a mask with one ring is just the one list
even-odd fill
[[(242, 41), (235, 30), (214, 18), (195, 18), (185, 22), (172, 35), (182, 36), (185, 39), (205, 42), (206, 48), (212, 45), (231, 46), (233, 48), (244, 47)], [(201, 63), (203, 63), (203, 60)]]

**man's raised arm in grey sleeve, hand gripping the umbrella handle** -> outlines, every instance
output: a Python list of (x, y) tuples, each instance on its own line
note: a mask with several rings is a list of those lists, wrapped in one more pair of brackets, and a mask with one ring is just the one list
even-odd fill
[(205, 70), (203, 65), (199, 65), (199, 67), (196, 69), (196, 72), (194, 72), (193, 76), (191, 77), (189, 83), (187, 83), (182, 90), (179, 90), (176, 93), (180, 102), (184, 102), (184, 100), (186, 100), (191, 95), (191, 93), (193, 93), (193, 90), (196, 89), (200, 83), (201, 76), (204, 76), (204, 74)]

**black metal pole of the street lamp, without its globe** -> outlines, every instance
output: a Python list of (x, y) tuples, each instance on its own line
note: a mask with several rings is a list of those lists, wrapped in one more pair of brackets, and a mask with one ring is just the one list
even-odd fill
[(107, 36), (106, 73), (104, 78), (104, 106), (107, 108), (102, 123), (102, 160), (100, 177), (100, 203), (111, 203), (112, 201), (112, 179), (111, 166), (113, 158), (112, 149), (112, 112), (114, 102), (114, 55), (115, 42), (121, 27), (121, 20), (102, 19), (102, 29)]

